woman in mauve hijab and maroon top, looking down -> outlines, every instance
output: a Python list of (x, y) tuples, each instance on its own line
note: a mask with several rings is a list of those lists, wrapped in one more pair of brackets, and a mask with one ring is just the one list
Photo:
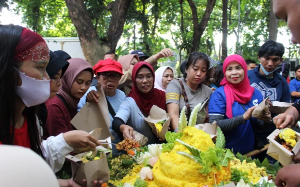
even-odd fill
[(77, 104), (93, 77), (93, 69), (85, 60), (71, 58), (68, 62), (69, 67), (61, 78), (62, 86), (54, 98), (45, 102), (48, 117), (44, 134), (48, 136), (75, 130), (70, 121), (77, 114)]

